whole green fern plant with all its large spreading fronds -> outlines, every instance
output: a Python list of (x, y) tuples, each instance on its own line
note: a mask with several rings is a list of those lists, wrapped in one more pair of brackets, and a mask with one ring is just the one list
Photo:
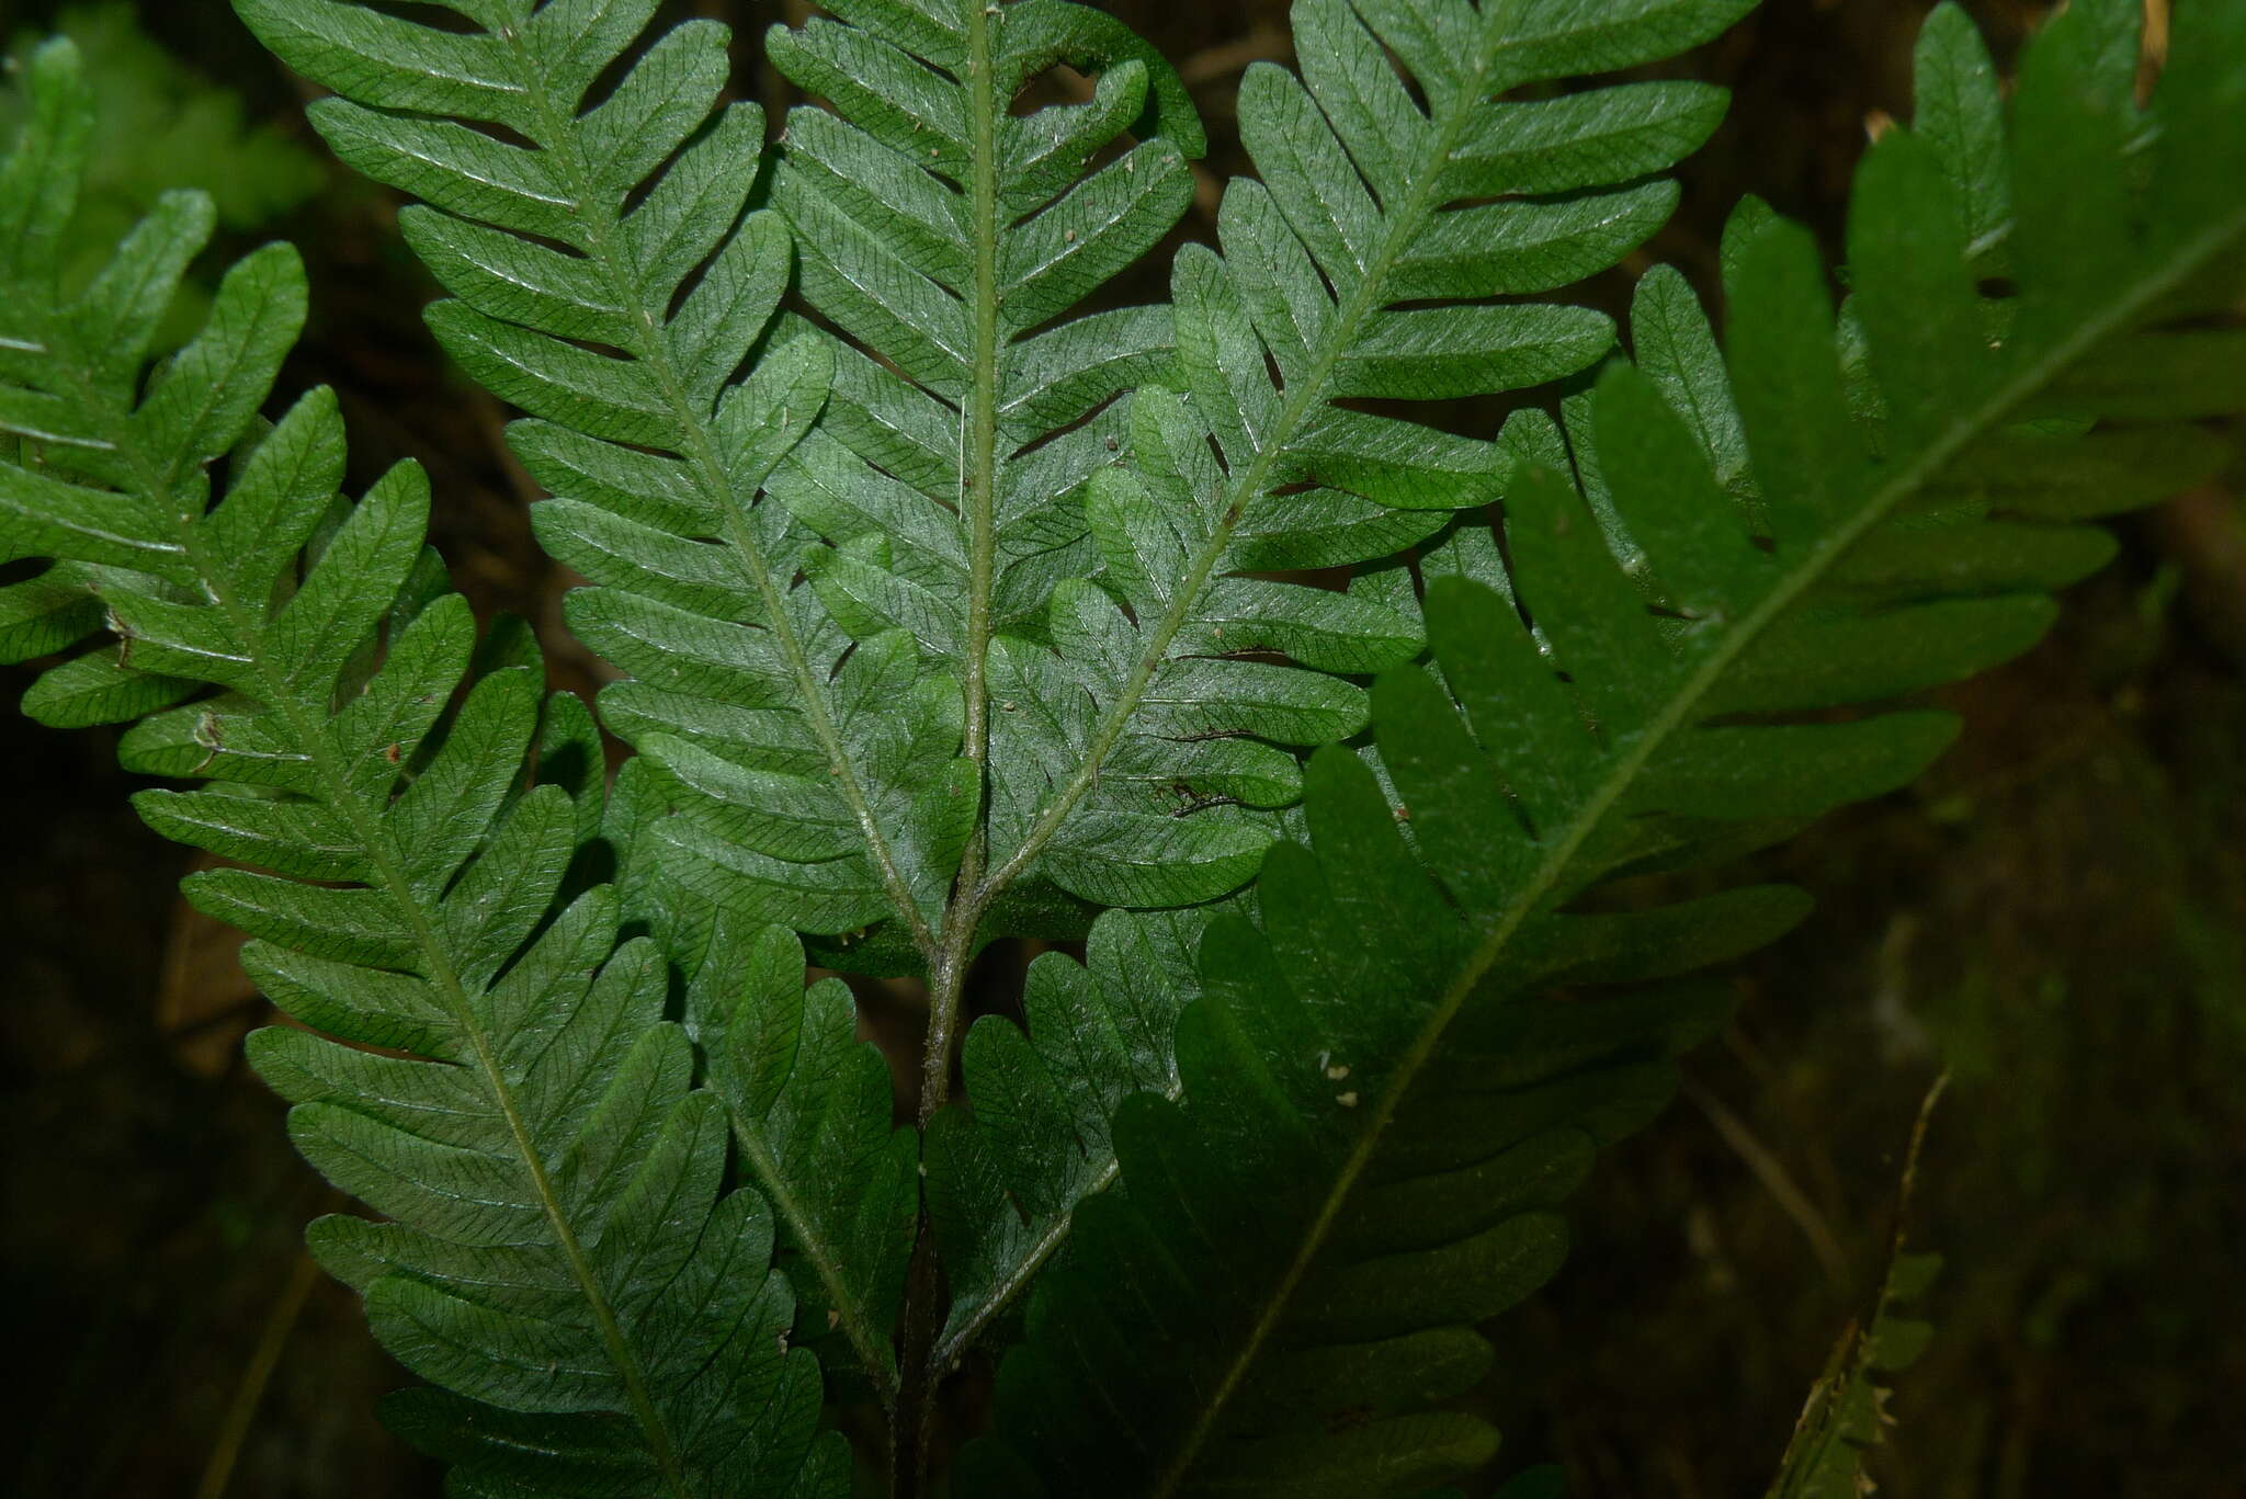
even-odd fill
[[(604, 787), (521, 634), (476, 645), (418, 474), (337, 499), (332, 398), (256, 420), (285, 249), (153, 373), (207, 207), (61, 283), (63, 45), (0, 180), (0, 544), (47, 560), (0, 643), (254, 865), (189, 890), (305, 1027), (252, 1054), (382, 1216), (314, 1250), (458, 1492), (840, 1492), (836, 1427), (898, 1495), (955, 1450), (977, 1499), (1485, 1470), (1485, 1324), (1720, 1023), (1705, 971), (1806, 910), (1624, 881), (1911, 780), (1952, 721), (1896, 699), (2030, 645), (2082, 521), (2246, 407), (2237, 7), (2179, 7), (2147, 97), (2138, 7), (2075, 0), (2010, 99), (1936, 9), (1846, 301), (1750, 200), (1720, 339), (1671, 270), (1626, 328), (1568, 294), (1723, 115), (1610, 74), (1750, 0), (1298, 0), (1256, 175), (1136, 308), (1101, 288), (1204, 133), (1089, 7), (831, 0), (766, 38), (813, 99), (773, 146), (656, 0), (236, 9), (420, 200), (636, 755)], [(968, 1027), (999, 937), (1083, 957)], [(928, 982), (919, 1128), (806, 955)], [(970, 1355), (995, 1416), (939, 1432)]]

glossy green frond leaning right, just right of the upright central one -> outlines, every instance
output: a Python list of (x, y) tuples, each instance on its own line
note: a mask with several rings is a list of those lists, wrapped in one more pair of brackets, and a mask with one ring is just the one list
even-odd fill
[(1002, 872), (1040, 861), (1089, 899), (1154, 906), (1220, 894), (1253, 867), (1260, 825), (1177, 814), (1285, 805), (1294, 787), (1256, 742), (1334, 742), (1363, 708), (1350, 683), (1233, 656), (1372, 672), (1422, 638), (1370, 598), (1247, 573), (1393, 553), (1444, 510), (1496, 499), (1503, 479), (1489, 443), (1341, 402), (1514, 391), (1592, 364), (1613, 342), (1606, 317), (1498, 299), (1570, 285), (1651, 236), (1676, 187), (1642, 178), (1723, 115), (1723, 92), (1693, 83), (1494, 99), (1667, 56), (1745, 9), (1296, 7), (1303, 81), (1258, 63), (1240, 92), (1262, 182), (1226, 189), (1224, 254), (1188, 247), (1172, 274), (1190, 409), (1141, 393), (1139, 479), (1110, 467), (1094, 483), (1114, 598), (1056, 589), (1058, 665), (999, 641), (995, 679), (1089, 701), (1083, 721), (997, 719)]

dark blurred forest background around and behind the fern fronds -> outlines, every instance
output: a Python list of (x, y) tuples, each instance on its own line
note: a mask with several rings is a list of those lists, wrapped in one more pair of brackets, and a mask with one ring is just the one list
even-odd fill
[[(0, 0), (0, 45), (58, 9), (110, 119), (94, 209), (121, 227), (155, 187), (202, 182), (229, 225), (211, 267), (294, 238), (312, 328), (285, 389), (341, 391), (355, 483), (429, 465), (436, 542), (478, 611), (555, 620), (564, 582), (530, 544), (505, 411), (436, 353), (395, 205), (319, 153), (299, 83), (220, 0)], [(786, 4), (674, 9), (734, 20), (743, 90), (782, 101), (755, 38)], [(1186, 231), (1206, 234), (1213, 184), (1240, 169), (1238, 72), (1285, 58), (1285, 4), (1107, 9), (1199, 94), (1213, 175)], [(1651, 258), (1705, 288), (1750, 189), (1835, 243), (1866, 130), (1907, 115), (1925, 9), (1768, 0), (1680, 63), (1736, 101)], [(2042, 4), (1970, 9), (2010, 56)], [(162, 49), (135, 43), (133, 11)], [(1159, 285), (1154, 267), (1121, 294)], [(1619, 306), (1626, 285), (1592, 294)], [(2242, 1492), (2246, 519), (2235, 488), (2208, 488), (2120, 535), (2042, 649), (1941, 694), (1970, 728), (1918, 789), (1763, 861), (1819, 915), (1741, 969), (1732, 1032), (1606, 1160), (1561, 1279), (1494, 1328), (1503, 1468), (1563, 1461), (1577, 1499), (1759, 1495), (1878, 1277), (1902, 1142), (1947, 1068), (1909, 1214), (1947, 1270), (1882, 1492)], [(546, 634), (559, 685), (593, 688), (597, 665)], [(31, 672), (0, 676), (13, 697)], [(189, 854), (133, 818), (112, 751), (112, 733), (0, 717), (0, 1348), (18, 1384), (0, 1490), (433, 1495), (373, 1420), (400, 1371), (296, 1245), (339, 1200), (240, 1063), (263, 1007), (231, 937), (177, 901)]]

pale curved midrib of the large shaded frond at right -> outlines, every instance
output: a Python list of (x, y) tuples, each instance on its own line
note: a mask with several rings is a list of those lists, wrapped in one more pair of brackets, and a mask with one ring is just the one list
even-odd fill
[(1909, 463), (1900, 465), (1896, 474), (1882, 483), (1862, 510), (1835, 526), (1830, 533), (1817, 539), (1815, 546), (1806, 551), (1799, 566), (1779, 578), (1763, 600), (1738, 618), (1738, 625), (1727, 632), (1716, 645), (1709, 647), (1707, 656), (1698, 667), (1684, 679), (1684, 683), (1660, 706), (1646, 728), (1635, 735), (1628, 748), (1615, 760), (1615, 766), (1597, 784), (1597, 789), (1586, 798), (1581, 811), (1570, 820), (1568, 829), (1550, 845), (1543, 861), (1536, 865), (1534, 874), (1521, 885), (1521, 892), (1509, 901), (1491, 921), (1487, 935), (1476, 944), (1473, 953), (1467, 957), (1464, 966), (1444, 987), (1426, 1025), (1413, 1036), (1399, 1059), (1390, 1081), (1381, 1088), (1381, 1094), (1372, 1101), (1366, 1117), (1366, 1128), (1350, 1146), (1341, 1171), (1334, 1175), (1332, 1189), (1318, 1205), (1318, 1216), (1305, 1232), (1303, 1243), (1296, 1247), (1294, 1259), (1287, 1263), (1287, 1272), (1280, 1277), (1278, 1288), (1264, 1301), (1256, 1326), (1233, 1351), (1226, 1362), (1224, 1378), (1217, 1389), (1202, 1405), (1193, 1429), (1181, 1441), (1177, 1454), (1163, 1468), (1161, 1479), (1150, 1490), (1152, 1499), (1168, 1499), (1179, 1492), (1179, 1486), (1188, 1477), (1199, 1450), (1215, 1436), (1220, 1420), (1231, 1405), (1231, 1398), (1240, 1391), (1247, 1380), (1249, 1369), (1253, 1369), (1264, 1344), (1278, 1330), (1294, 1299), (1294, 1292), (1303, 1285), (1318, 1254), (1325, 1250), (1327, 1238), (1334, 1234), (1334, 1225), (1341, 1220), (1341, 1209), (1350, 1200), (1357, 1180), (1372, 1164), (1379, 1153), (1381, 1137), (1395, 1121), (1397, 1108), (1410, 1085), (1417, 1081), (1419, 1072), (1435, 1056), (1444, 1032), (1458, 1018), (1458, 1011), (1467, 1005), (1467, 998), (1496, 966), (1505, 946), (1514, 939), (1521, 926), (1543, 906), (1543, 901), (1559, 888), (1574, 856), (1583, 850), (1590, 836), (1599, 829), (1606, 816), (1622, 802), (1624, 793), (1644, 771), (1646, 762), (1660, 751), (1660, 746), (1678, 728), (1691, 721), (1693, 710), (1700, 699), (1723, 679), (1723, 674), (1738, 661), (1738, 656), (1754, 645), (1765, 629), (1779, 616), (1786, 614), (1795, 600), (1801, 598), (1824, 573), (1839, 562), (1848, 548), (1853, 548), (1871, 528), (1887, 519), (1887, 515), (1902, 503), (1909, 494), (1918, 492), (1934, 474), (1938, 474), (1952, 458), (1956, 458), (1970, 443), (1985, 436), (1990, 429), (1999, 427), (2010, 418), (2035, 391), (2046, 387), (2055, 375), (2060, 375), (2075, 360), (2087, 355), (2091, 348), (2113, 337), (2116, 333), (2131, 326), (2131, 321), (2161, 297), (2172, 292), (2176, 285), (2190, 281), (2203, 265), (2208, 265), (2217, 254), (2221, 254), (2233, 240), (2246, 238), (2246, 207), (2242, 207), (2230, 220), (2219, 222), (2199, 238), (2190, 240), (2179, 249), (2176, 258), (2163, 274), (2149, 276), (2136, 288), (2127, 290), (2100, 317), (2084, 319), (2078, 324), (2069, 337), (2060, 339), (2042, 357), (2024, 362), (2008, 380), (2003, 380), (1988, 400), (1976, 407), (1963, 409), (1950, 429), (1938, 438), (1929, 440)]

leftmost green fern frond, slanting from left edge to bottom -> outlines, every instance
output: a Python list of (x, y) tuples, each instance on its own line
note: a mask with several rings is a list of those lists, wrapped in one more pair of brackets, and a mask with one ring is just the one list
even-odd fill
[[(384, 1214), (310, 1243), (449, 1391), (407, 1398), (404, 1429), (469, 1495), (833, 1495), (847, 1456), (818, 1434), (818, 1360), (784, 1346), (773, 1218), (723, 1191), (723, 1112), (663, 1020), (665, 966), (618, 948), (606, 888), (570, 894), (602, 818), (584, 708), (541, 715), (535, 661), (476, 667), (422, 546), (420, 470), (337, 499), (332, 393), (256, 425), (303, 321), (292, 249), (238, 263), (146, 389), (209, 205), (173, 200), (61, 299), (90, 110), (67, 43), (31, 90), (0, 171), (0, 544), (54, 557), (40, 589), (76, 587), (119, 636), (79, 658), (119, 683), (108, 715), (166, 683), (124, 762), (204, 787), (144, 791), (141, 816), (258, 865), (186, 894), (252, 935), (258, 987), (314, 1027), (249, 1054), (305, 1157)], [(47, 641), (79, 623), (49, 614)]]

